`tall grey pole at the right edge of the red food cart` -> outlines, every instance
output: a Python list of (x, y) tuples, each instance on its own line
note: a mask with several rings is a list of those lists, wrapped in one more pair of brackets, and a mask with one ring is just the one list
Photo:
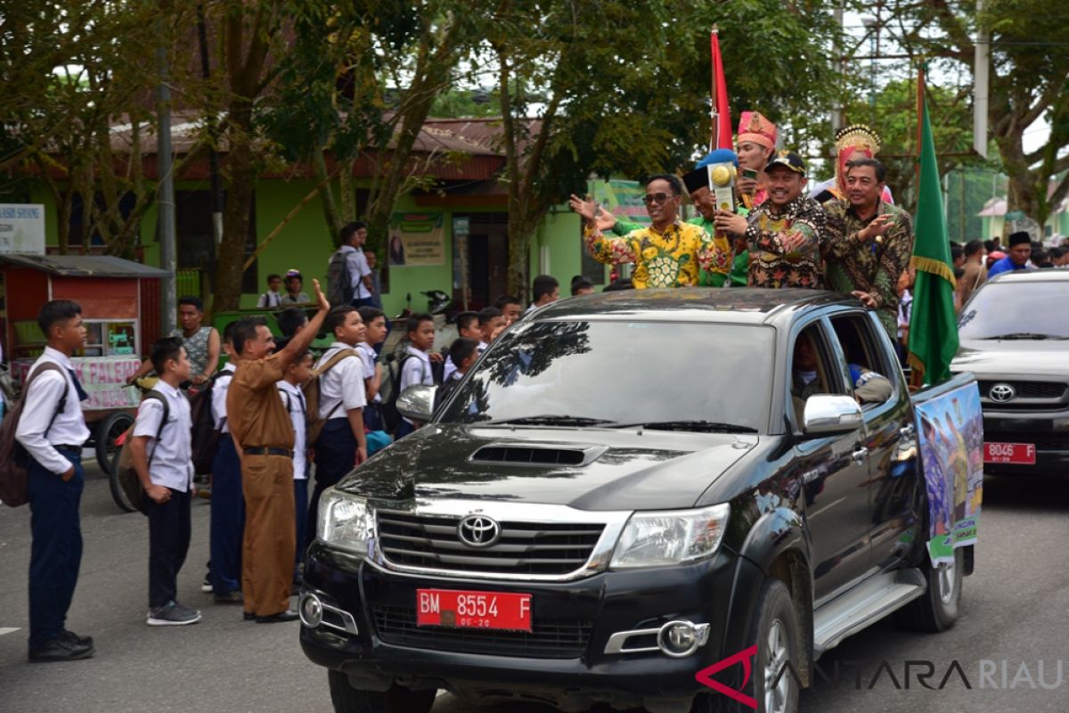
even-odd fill
[(156, 234), (159, 238), (159, 266), (167, 272), (167, 276), (162, 279), (164, 294), (159, 300), (162, 310), (160, 317), (162, 334), (169, 335), (177, 326), (177, 297), (175, 296), (174, 179), (171, 174), (171, 88), (167, 59), (167, 37), (170, 33), (162, 13), (157, 20), (157, 32), (159, 44), (156, 45), (156, 72), (159, 75), (159, 88), (156, 94), (156, 112), (159, 120), (159, 136), (156, 144), (156, 170), (159, 192), (156, 198), (158, 206)]

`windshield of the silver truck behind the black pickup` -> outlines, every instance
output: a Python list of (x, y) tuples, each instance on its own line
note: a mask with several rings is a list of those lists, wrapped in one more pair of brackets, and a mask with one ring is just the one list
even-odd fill
[(1069, 305), (1069, 281), (992, 282), (965, 305), (958, 336), (962, 340), (1069, 339), (1069, 320), (1055, 316), (1065, 305)]

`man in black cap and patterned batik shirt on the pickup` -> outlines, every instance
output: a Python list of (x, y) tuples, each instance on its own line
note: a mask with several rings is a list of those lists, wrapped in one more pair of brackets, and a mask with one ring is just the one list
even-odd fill
[(793, 152), (780, 151), (764, 169), (769, 199), (744, 219), (725, 211), (716, 214), (717, 230), (746, 236), (749, 245), (749, 286), (823, 286), (825, 214), (805, 195), (805, 162)]

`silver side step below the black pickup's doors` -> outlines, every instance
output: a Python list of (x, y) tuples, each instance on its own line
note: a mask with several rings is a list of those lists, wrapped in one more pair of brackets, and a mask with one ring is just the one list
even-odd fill
[(814, 613), (814, 657), (819, 658), (842, 639), (905, 606), (924, 594), (927, 588), (920, 570), (896, 570), (877, 574), (832, 600)]

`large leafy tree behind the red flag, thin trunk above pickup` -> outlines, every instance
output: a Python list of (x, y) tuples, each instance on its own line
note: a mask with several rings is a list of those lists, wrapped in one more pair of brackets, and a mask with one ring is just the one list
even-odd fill
[(704, 152), (714, 24), (733, 106), (791, 118), (785, 129), (794, 141), (821, 130), (801, 118), (831, 106), (831, 3), (786, 12), (778, 0), (498, 3), (475, 65), (498, 75), (510, 290), (526, 289), (530, 239), (545, 213), (591, 172), (684, 170)]

